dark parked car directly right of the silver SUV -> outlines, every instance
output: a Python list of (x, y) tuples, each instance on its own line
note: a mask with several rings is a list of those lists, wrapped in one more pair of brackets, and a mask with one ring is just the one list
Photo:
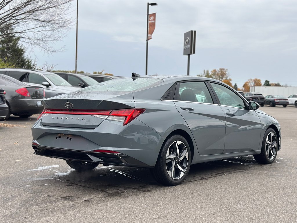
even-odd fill
[(99, 84), (99, 82), (97, 82), (95, 79), (79, 73), (54, 73), (58, 74), (61, 78), (64, 78), (73, 87), (89, 87), (95, 84)]

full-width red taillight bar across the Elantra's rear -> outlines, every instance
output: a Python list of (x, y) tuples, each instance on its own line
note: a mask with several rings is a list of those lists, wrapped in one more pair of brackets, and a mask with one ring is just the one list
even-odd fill
[(98, 118), (114, 120), (123, 122), (127, 125), (138, 115), (143, 113), (146, 109), (119, 109), (119, 110), (85, 110), (85, 109), (43, 109), (40, 119), (44, 114), (80, 114), (80, 115), (93, 115)]

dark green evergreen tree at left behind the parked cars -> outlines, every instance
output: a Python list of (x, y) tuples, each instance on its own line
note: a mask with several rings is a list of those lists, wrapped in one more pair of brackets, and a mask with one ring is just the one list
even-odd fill
[(34, 69), (36, 64), (25, 56), (25, 48), (20, 45), (20, 37), (11, 34), (12, 28), (0, 30), (0, 59), (16, 68)]

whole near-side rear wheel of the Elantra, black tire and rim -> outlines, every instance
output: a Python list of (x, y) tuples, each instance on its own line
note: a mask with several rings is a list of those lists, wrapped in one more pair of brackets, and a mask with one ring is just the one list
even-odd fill
[[(178, 147), (178, 152), (176, 147)], [(151, 173), (159, 183), (168, 186), (178, 185), (184, 181), (189, 173), (191, 155), (187, 140), (181, 135), (171, 135), (165, 140), (156, 166), (151, 169)], [(169, 173), (170, 169), (171, 173)]]

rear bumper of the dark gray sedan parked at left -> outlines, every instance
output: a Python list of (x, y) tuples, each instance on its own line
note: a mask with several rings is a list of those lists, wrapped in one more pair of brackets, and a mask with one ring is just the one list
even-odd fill
[(42, 112), (43, 106), (38, 106), (37, 101), (42, 99), (18, 99), (7, 100), (12, 114), (38, 114)]

